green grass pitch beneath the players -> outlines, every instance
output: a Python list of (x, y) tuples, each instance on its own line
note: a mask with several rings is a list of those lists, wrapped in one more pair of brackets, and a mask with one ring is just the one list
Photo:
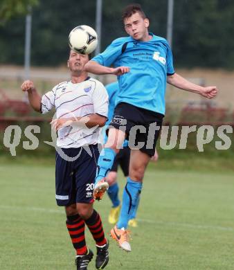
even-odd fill
[[(110, 240), (106, 269), (234, 269), (233, 173), (154, 167), (145, 174), (132, 253)], [(6, 163), (0, 175), (0, 269), (75, 269), (64, 209), (55, 204), (54, 166)], [(119, 174), (121, 190), (124, 181)], [(110, 206), (107, 196), (95, 204), (108, 237)]]

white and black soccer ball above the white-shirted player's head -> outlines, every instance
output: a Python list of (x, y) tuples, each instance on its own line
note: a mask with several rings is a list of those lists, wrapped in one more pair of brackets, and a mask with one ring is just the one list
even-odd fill
[(71, 50), (82, 55), (89, 55), (98, 45), (98, 35), (90, 26), (76, 26), (69, 34)]

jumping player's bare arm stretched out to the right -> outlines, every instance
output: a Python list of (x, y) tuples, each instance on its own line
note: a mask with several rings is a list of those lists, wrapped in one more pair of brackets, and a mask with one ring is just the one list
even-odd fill
[(174, 73), (173, 75), (168, 75), (167, 82), (169, 84), (172, 84), (174, 87), (190, 91), (192, 93), (199, 93), (199, 95), (204, 96), (205, 98), (215, 98), (218, 92), (218, 89), (215, 86), (201, 87), (198, 84), (194, 84), (186, 80), (177, 73)]

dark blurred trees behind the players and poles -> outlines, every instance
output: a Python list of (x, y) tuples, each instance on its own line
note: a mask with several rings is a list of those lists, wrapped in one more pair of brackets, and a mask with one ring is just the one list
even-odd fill
[[(64, 64), (67, 38), (75, 26), (95, 28), (96, 0), (1, 0), (0, 64), (24, 64), (25, 14), (33, 5), (33, 66)], [(133, 1), (102, 0), (102, 50), (125, 35), (121, 11)], [(168, 1), (138, 0), (150, 31), (166, 36)], [(11, 6), (10, 6), (11, 5)], [(10, 8), (9, 8), (10, 6)], [(234, 68), (234, 1), (175, 0), (173, 53), (177, 67)]]

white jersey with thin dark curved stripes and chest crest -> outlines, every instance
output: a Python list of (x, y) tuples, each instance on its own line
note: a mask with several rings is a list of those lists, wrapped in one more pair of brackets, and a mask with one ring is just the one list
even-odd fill
[[(107, 117), (108, 94), (101, 82), (87, 78), (84, 82), (73, 84), (61, 82), (52, 91), (42, 96), (42, 113), (55, 107), (56, 118), (82, 117), (99, 114)], [(62, 127), (57, 134), (57, 147), (77, 148), (98, 143), (100, 128), (85, 125)]]

